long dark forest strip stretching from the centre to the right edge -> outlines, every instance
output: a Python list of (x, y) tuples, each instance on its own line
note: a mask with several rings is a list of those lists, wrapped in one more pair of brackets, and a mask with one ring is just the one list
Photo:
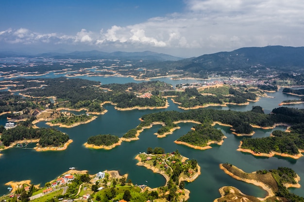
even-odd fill
[[(304, 122), (304, 109), (276, 108), (271, 114), (264, 114), (259, 106), (253, 107), (251, 111), (232, 111), (216, 109), (192, 109), (185, 112), (162, 111), (157, 113), (145, 114), (143, 120), (135, 129), (129, 130), (123, 137), (135, 137), (137, 130), (143, 126), (149, 126), (152, 122), (164, 122), (165, 131), (173, 128), (173, 122), (180, 120), (194, 120), (201, 123), (221, 122), (230, 124), (236, 133), (250, 134), (253, 132), (253, 125), (262, 127), (273, 126), (276, 123), (300, 124)], [(161, 130), (161, 129), (160, 129)]]

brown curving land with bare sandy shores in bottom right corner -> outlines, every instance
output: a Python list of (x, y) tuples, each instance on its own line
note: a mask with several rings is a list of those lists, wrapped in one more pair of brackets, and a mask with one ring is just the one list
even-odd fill
[(300, 177), (290, 168), (279, 167), (276, 170), (263, 170), (247, 173), (228, 163), (220, 164), (220, 169), (236, 180), (251, 183), (260, 186), (267, 191), (265, 198), (256, 198), (243, 194), (233, 186), (224, 186), (220, 188), (221, 198), (214, 202), (261, 202), (261, 201), (296, 201), (304, 202), (304, 198), (297, 196), (287, 190), (288, 187), (300, 187), (298, 183)]

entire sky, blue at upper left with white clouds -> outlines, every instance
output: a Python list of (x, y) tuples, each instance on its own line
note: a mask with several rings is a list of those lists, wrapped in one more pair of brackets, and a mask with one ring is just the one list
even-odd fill
[(304, 46), (302, 0), (0, 0), (0, 51)]

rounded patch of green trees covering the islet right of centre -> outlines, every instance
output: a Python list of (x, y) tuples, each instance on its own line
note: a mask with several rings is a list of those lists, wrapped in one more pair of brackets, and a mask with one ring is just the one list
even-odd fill
[(224, 136), (219, 129), (215, 129), (211, 125), (198, 124), (195, 125), (194, 130), (189, 131), (186, 135), (177, 139), (195, 146), (207, 146), (208, 141), (220, 141)]

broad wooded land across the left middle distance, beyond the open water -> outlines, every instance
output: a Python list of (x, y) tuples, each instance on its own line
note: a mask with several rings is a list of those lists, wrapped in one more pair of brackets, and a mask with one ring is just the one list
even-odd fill
[[(160, 81), (123, 85), (101, 85), (98, 81), (80, 78), (39, 78), (36, 82), (17, 78), (14, 81), (18, 85), (12, 87), (12, 91), (22, 91), (22, 93), (34, 97), (55, 96), (58, 105), (54, 107), (86, 108), (90, 112), (103, 111), (101, 103), (105, 101), (116, 104), (118, 108), (163, 107), (167, 100), (160, 95), (160, 92), (173, 90), (170, 84)], [(138, 96), (148, 92), (152, 92), (152, 96), (149, 98)]]

